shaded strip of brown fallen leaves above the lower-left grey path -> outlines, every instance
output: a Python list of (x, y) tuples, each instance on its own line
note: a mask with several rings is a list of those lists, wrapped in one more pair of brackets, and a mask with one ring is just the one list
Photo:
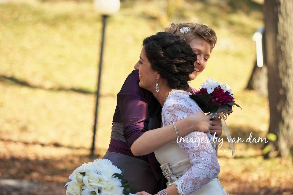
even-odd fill
[[(2, 178), (26, 179), (34, 181), (67, 182), (68, 176), (84, 162), (92, 161), (87, 155), (66, 155), (56, 159), (30, 159), (10, 156), (0, 158)], [(48, 176), (47, 179), (44, 176)], [(54, 179), (60, 176), (60, 179)], [(38, 180), (36, 180), (38, 181)]]

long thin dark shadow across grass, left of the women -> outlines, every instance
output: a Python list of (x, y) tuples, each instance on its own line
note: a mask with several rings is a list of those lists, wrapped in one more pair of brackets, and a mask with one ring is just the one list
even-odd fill
[[(24, 86), (24, 87), (29, 87), (29, 88), (33, 88), (33, 89), (42, 89), (42, 90), (49, 90), (49, 91), (71, 91), (71, 92), (76, 92), (76, 93), (81, 93), (81, 94), (96, 94), (93, 91), (90, 90), (86, 90), (86, 89), (81, 89), (81, 88), (64, 88), (64, 87), (44, 87), (44, 86), (37, 86), (37, 85), (33, 85), (25, 80), (21, 80), (18, 78), (15, 78), (13, 76), (5, 76), (5, 75), (0, 75), (0, 82), (3, 83), (7, 83), (10, 84), (10, 82), (16, 84), (16, 85), (20, 85), (20, 86)], [(107, 95), (100, 95), (100, 97), (116, 97), (115, 95), (112, 94), (107, 94)]]

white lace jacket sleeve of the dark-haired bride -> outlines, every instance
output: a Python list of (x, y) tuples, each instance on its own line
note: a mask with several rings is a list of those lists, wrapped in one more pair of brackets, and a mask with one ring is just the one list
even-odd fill
[[(162, 110), (164, 126), (201, 110), (196, 102), (184, 93), (172, 94), (166, 101)], [(220, 172), (220, 167), (206, 133), (193, 131), (183, 138), (184, 141), (181, 140), (178, 145), (189, 157), (192, 166), (186, 168), (183, 176), (177, 179), (174, 184), (177, 185), (177, 191), (180, 195), (188, 195), (216, 178)]]

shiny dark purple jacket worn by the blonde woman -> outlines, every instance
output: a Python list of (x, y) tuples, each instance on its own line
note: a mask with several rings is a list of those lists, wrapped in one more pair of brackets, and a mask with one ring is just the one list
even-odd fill
[[(111, 138), (108, 151), (149, 162), (154, 175), (159, 180), (164, 176), (154, 152), (144, 156), (134, 156), (130, 150), (133, 142), (144, 132), (161, 127), (161, 105), (152, 93), (139, 87), (138, 75), (138, 71), (133, 70), (117, 94), (113, 122), (122, 122), (126, 143)], [(196, 90), (190, 88), (190, 91), (194, 93)]]

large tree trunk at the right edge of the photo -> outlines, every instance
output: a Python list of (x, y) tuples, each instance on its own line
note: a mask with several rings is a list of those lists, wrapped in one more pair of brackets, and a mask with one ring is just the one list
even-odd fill
[[(266, 65), (270, 123), (270, 152), (282, 157), (293, 152), (293, 1), (265, 0)], [(269, 153), (265, 155), (268, 157)]]

